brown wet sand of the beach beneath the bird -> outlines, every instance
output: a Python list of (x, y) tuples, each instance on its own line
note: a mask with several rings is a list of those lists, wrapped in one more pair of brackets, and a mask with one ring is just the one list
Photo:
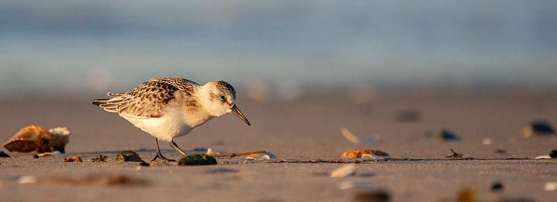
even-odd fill
[[(86, 99), (0, 101), (1, 140), (31, 124), (67, 126), (72, 135), (64, 156), (84, 160), (8, 153), (13, 158), (0, 158), (0, 201), (352, 201), (377, 191), (388, 193), (391, 201), (455, 201), (466, 188), (476, 190), (479, 201), (557, 197), (556, 191), (544, 190), (545, 183), (557, 182), (557, 160), (533, 159), (557, 149), (556, 137), (521, 135), (532, 121), (557, 126), (557, 96), (391, 94), (361, 102), (345, 94), (317, 94), (260, 103), (240, 94), (237, 106), (251, 126), (225, 115), (175, 142), (190, 154), (203, 153), (196, 148), (221, 153), (265, 150), (276, 159), (217, 158), (218, 165), (201, 167), (115, 162), (116, 153), (126, 150), (150, 160), (155, 155), (153, 138)], [(400, 121), (402, 112), (417, 116)], [(359, 137), (378, 135), (379, 140), (354, 144), (340, 135), (342, 127)], [(427, 137), (428, 131), (440, 128), (462, 140)], [(484, 138), (492, 144), (482, 144)], [(160, 144), (167, 158), (180, 158), (168, 143)], [(385, 151), (391, 160), (340, 159), (351, 149)], [(446, 158), (452, 155), (450, 149), (474, 159)], [(92, 162), (97, 153), (109, 160)], [(329, 177), (349, 164), (356, 166), (355, 176)], [(38, 181), (18, 183), (22, 176)], [(139, 183), (84, 182), (91, 176), (124, 176)], [(495, 183), (503, 188), (492, 190)], [(346, 185), (354, 187), (340, 189)]]

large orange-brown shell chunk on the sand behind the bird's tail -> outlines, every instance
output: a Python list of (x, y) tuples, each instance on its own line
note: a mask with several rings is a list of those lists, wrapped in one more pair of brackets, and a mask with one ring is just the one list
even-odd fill
[[(49, 132), (52, 131), (52, 132)], [(65, 127), (52, 128), (49, 131), (41, 126), (28, 126), (17, 132), (4, 147), (8, 151), (45, 153), (65, 152), (65, 145), (70, 142), (70, 131)]]

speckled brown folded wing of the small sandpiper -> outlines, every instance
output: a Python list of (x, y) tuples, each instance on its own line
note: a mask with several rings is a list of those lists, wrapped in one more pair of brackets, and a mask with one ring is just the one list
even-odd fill
[(190, 95), (193, 85), (197, 84), (183, 78), (153, 78), (130, 92), (109, 93), (113, 98), (95, 100), (93, 104), (122, 116), (157, 118), (164, 106), (175, 99), (176, 91)]

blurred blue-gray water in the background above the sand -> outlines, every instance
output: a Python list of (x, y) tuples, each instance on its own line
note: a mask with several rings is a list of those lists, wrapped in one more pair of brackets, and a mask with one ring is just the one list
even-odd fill
[(158, 76), (267, 94), (553, 92), (557, 1), (0, 1), (2, 99), (102, 97)]

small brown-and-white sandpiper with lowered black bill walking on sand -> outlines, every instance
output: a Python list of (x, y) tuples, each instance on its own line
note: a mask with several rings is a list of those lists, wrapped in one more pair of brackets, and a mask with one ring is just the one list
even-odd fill
[[(233, 114), (249, 124), (248, 119), (236, 107), (236, 91), (224, 81), (212, 81), (198, 85), (184, 78), (153, 78), (130, 92), (108, 93), (111, 99), (95, 99), (93, 104), (120, 117), (155, 137), (157, 158), (164, 158), (159, 149), (159, 139), (182, 155), (187, 155), (172, 140), (182, 137), (213, 117)], [(173, 160), (171, 160), (173, 161)]]

